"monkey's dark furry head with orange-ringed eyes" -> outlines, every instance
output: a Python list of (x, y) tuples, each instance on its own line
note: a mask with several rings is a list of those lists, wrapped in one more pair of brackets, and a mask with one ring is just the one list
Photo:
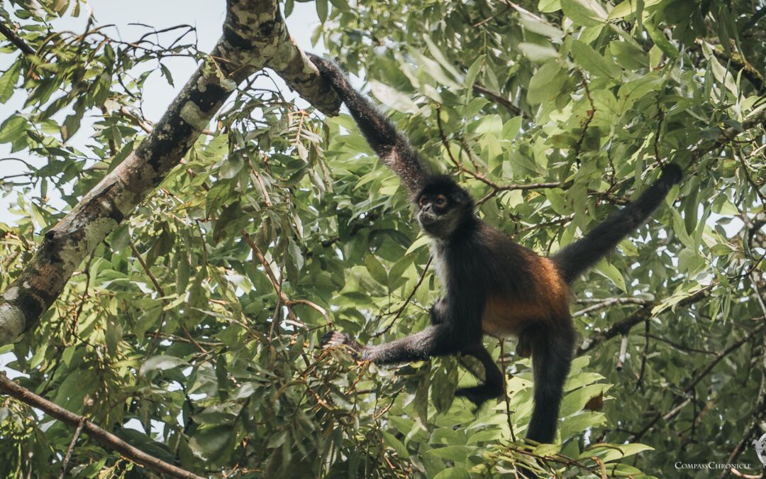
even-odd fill
[(450, 238), (475, 222), (473, 199), (449, 176), (431, 176), (415, 198), (417, 222), (434, 238)]

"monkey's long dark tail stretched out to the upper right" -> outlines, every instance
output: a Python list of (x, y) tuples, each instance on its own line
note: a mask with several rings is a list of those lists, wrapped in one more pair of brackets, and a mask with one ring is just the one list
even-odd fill
[(607, 252), (617, 246), (622, 238), (643, 225), (665, 196), (677, 182), (681, 181), (682, 172), (676, 163), (669, 163), (663, 168), (660, 179), (654, 182), (638, 199), (628, 203), (619, 212), (612, 213), (588, 235), (568, 244), (551, 259), (558, 267), (561, 277), (567, 283), (575, 281), (588, 267), (593, 266)]

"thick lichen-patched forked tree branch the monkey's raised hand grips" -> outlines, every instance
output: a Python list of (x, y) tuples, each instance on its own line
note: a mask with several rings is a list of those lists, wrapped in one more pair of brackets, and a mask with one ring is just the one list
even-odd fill
[(290, 40), (277, 0), (228, 0), (224, 34), (139, 147), (48, 230), (0, 297), (0, 345), (18, 340), (61, 294), (79, 264), (133, 214), (195, 143), (214, 114), (254, 71), (273, 67), (324, 113), (340, 100)]

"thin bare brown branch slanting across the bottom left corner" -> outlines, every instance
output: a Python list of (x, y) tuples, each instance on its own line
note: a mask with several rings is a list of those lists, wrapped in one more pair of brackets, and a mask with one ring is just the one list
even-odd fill
[[(59, 421), (70, 426), (74, 426), (74, 428), (81, 427), (87, 435), (98, 441), (104, 447), (119, 452), (119, 454), (122, 454), (125, 458), (128, 458), (136, 464), (141, 464), (145, 468), (149, 468), (152, 471), (156, 471), (159, 474), (165, 474), (169, 477), (202, 479), (202, 477), (197, 474), (185, 471), (173, 464), (168, 464), (159, 458), (155, 458), (154, 456), (146, 454), (144, 451), (134, 448), (116, 435), (104, 431), (102, 428), (88, 421), (85, 416), (74, 414), (74, 412), (68, 411), (61, 406), (34, 394), (34, 392), (31, 392), (29, 389), (21, 387), (11, 381), (11, 379), (8, 379), (8, 376), (5, 376), (5, 372), (0, 372), (0, 392), (18, 399), (27, 405), (31, 405), (34, 408), (38, 408), (45, 414), (57, 418)], [(77, 434), (75, 435), (75, 438), (77, 438)]]

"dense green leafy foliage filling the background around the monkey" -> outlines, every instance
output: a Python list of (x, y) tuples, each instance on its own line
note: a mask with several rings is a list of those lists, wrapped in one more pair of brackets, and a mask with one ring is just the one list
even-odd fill
[[(0, 179), (20, 216), (0, 225), (3, 286), (61, 218), (49, 197), (74, 206), (145, 136), (139, 106), (155, 65), (205, 57), (174, 42), (183, 30), (151, 44), (97, 25), (53, 32), (47, 21), (80, 4), (42, 3), (0, 10), (38, 52), (2, 43), (16, 57), (0, 101), (20, 95), (24, 107), (3, 110), (0, 143), (28, 162)], [(763, 126), (741, 130), (764, 108), (763, 2), (318, 0), (316, 10), (329, 56), (470, 189), (486, 221), (535, 251), (588, 231), (663, 162), (683, 166), (655, 219), (575, 285), (582, 345), (561, 440), (533, 452), (563, 477), (697, 474), (679, 461), (758, 474), (766, 156)], [(198, 474), (514, 477), (532, 460), (520, 439), (532, 382), (512, 340), (486, 339), (507, 398), (476, 413), (453, 401), (475, 380), (465, 368), (480, 367), (466, 359), (383, 369), (318, 348), (329, 323), (375, 342), (420, 330), (439, 284), (404, 188), (351, 118), (300, 110), (262, 84), (240, 86), (41, 325), (0, 353), (15, 356), (22, 385)], [(67, 139), (85, 115), (97, 120), (76, 148)], [(0, 399), (0, 475), (57, 475), (72, 434)], [(87, 436), (70, 470), (146, 474)]]

